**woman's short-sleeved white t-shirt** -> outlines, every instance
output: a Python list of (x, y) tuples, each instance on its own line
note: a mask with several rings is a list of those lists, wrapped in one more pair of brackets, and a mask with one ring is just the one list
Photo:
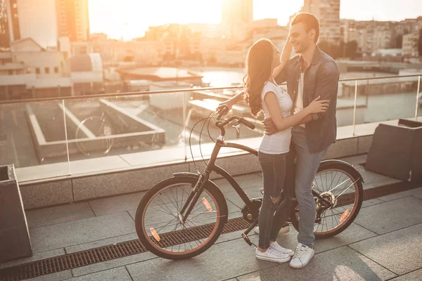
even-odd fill
[[(269, 115), (268, 107), (264, 102), (264, 97), (268, 92), (274, 92), (276, 94), (277, 100), (279, 100), (281, 112), (283, 112), (283, 117), (290, 116), (290, 110), (293, 107), (293, 102), (290, 99), (290, 96), (281, 90), (280, 87), (275, 84), (275, 82), (271, 83), (267, 81), (267, 83), (264, 84), (264, 88), (261, 92), (261, 103), (264, 117), (271, 118)], [(260, 152), (267, 154), (281, 154), (288, 152), (290, 148), (291, 136), (292, 133), (290, 128), (278, 133), (274, 133), (271, 136), (264, 134), (260, 145)]]

